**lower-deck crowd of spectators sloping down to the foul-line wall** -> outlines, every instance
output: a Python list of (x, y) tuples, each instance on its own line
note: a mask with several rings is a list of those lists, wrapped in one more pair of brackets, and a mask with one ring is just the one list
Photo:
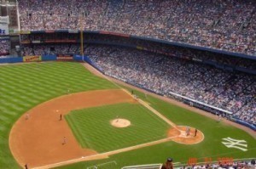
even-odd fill
[(85, 54), (108, 76), (166, 96), (177, 93), (256, 124), (255, 76), (136, 49), (89, 46)]

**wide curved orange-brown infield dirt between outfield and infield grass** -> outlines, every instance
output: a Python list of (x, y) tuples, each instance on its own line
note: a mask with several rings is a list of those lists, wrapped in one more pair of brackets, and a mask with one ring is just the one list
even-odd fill
[(15, 122), (9, 135), (11, 152), (20, 166), (27, 164), (29, 168), (96, 155), (93, 149), (80, 147), (63, 115), (71, 110), (124, 102), (134, 100), (114, 89), (73, 93), (39, 104)]

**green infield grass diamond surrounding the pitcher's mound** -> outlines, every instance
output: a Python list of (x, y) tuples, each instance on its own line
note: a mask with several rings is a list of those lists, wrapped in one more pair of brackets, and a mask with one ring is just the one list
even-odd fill
[[(117, 128), (113, 119), (131, 121), (130, 127)], [(84, 148), (108, 152), (167, 137), (171, 127), (141, 104), (110, 104), (65, 115), (73, 133)]]

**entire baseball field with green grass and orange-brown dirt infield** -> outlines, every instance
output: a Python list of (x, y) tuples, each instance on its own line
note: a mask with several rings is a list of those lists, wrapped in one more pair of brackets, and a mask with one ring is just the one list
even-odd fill
[(0, 168), (115, 169), (169, 156), (177, 163), (256, 157), (252, 134), (121, 88), (79, 63), (1, 65), (0, 94)]

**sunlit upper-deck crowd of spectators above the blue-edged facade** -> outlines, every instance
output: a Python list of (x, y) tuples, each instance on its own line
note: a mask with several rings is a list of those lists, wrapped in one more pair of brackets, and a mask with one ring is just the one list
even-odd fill
[(256, 55), (254, 0), (20, 0), (22, 30), (114, 31)]

